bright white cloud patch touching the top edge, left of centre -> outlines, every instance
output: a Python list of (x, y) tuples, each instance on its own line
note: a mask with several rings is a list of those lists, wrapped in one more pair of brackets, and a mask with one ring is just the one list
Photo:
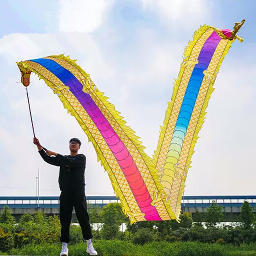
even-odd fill
[(92, 32), (101, 24), (111, 0), (60, 0), (59, 31)]

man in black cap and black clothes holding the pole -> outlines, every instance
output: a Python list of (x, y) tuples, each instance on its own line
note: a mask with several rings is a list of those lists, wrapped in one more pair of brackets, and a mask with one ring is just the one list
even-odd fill
[(82, 228), (83, 237), (87, 242), (86, 252), (90, 255), (97, 255), (92, 245), (92, 231), (87, 213), (86, 197), (84, 194), (84, 170), (86, 157), (78, 154), (81, 141), (72, 138), (69, 141), (69, 156), (62, 156), (50, 150), (43, 150), (39, 140), (34, 138), (39, 154), (48, 164), (60, 166), (60, 224), (62, 250), (60, 256), (68, 256), (69, 227), (71, 223), (73, 207), (75, 207), (76, 217)]

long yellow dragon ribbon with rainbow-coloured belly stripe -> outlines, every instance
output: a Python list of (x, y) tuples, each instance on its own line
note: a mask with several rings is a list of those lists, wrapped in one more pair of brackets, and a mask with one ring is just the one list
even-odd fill
[(139, 137), (75, 60), (58, 55), (17, 64), (26, 84), (31, 72), (37, 74), (76, 118), (108, 172), (131, 223), (178, 219), (191, 156), (213, 84), (231, 44), (236, 38), (241, 40), (236, 32), (243, 23), (236, 23), (233, 31), (204, 25), (195, 32), (185, 49), (153, 159), (145, 154)]

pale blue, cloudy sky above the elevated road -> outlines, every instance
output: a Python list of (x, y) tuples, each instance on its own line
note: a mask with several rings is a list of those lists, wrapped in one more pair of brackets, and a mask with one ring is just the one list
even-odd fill
[[(65, 54), (77, 59), (152, 156), (184, 48), (207, 24), (245, 24), (215, 81), (192, 156), (185, 195), (255, 195), (256, 1), (245, 0), (1, 0), (0, 196), (58, 196), (58, 167), (33, 144), (25, 87), (17, 61)], [(3, 25), (4, 24), (4, 25)], [(82, 141), (87, 196), (112, 196), (92, 143), (57, 95), (32, 74), (28, 87), (41, 144), (68, 155)]]

